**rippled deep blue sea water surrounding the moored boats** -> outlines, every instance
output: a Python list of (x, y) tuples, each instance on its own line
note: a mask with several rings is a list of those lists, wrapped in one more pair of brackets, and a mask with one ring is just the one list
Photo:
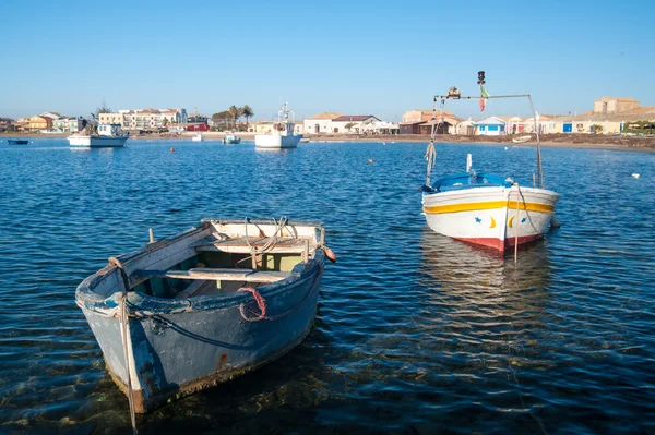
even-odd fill
[[(1, 143), (0, 433), (129, 430), (75, 287), (207, 216), (321, 220), (338, 263), (298, 348), (141, 433), (655, 433), (655, 155), (544, 149), (562, 227), (515, 267), (427, 229), (425, 145)], [(534, 171), (534, 148), (437, 149), (438, 174)]]

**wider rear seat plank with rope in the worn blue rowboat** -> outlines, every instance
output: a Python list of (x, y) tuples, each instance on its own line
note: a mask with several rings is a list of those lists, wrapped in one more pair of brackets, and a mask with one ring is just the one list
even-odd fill
[[(196, 252), (215, 251), (230, 254), (250, 254), (251, 246), (261, 250), (267, 238), (238, 238), (227, 240), (200, 241), (193, 245)], [(307, 239), (277, 238), (275, 244), (266, 249), (266, 254), (303, 254), (308, 250)]]

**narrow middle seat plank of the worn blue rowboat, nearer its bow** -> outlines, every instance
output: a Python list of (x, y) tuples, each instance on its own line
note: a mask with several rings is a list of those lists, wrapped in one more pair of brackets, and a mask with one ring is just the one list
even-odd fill
[(259, 271), (252, 269), (189, 269), (189, 270), (135, 270), (138, 278), (203, 279), (216, 281), (277, 282), (291, 276), (286, 271)]

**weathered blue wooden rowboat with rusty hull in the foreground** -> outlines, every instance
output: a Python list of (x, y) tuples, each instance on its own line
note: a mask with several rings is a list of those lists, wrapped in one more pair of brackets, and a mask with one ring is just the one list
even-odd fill
[(133, 410), (248, 373), (302, 341), (325, 257), (334, 259), (324, 233), (284, 218), (204, 219), (86, 278), (76, 303)]

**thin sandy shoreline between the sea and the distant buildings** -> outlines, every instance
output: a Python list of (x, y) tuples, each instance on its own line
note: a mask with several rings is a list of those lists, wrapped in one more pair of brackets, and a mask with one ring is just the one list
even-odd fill
[[(196, 133), (186, 134), (139, 134), (130, 138), (134, 141), (183, 141), (191, 140)], [(203, 132), (207, 140), (221, 140), (225, 136), (223, 132)], [(246, 141), (254, 140), (255, 133), (241, 132), (237, 133)], [(2, 143), (5, 138), (66, 138), (68, 134), (0, 134)], [(428, 143), (428, 135), (348, 135), (348, 134), (307, 134), (303, 135), (310, 142), (329, 143), (329, 142), (422, 142)], [(536, 141), (528, 141), (521, 144), (512, 142), (512, 136), (479, 136), (479, 135), (452, 135), (440, 134), (434, 137), (434, 143), (450, 144), (474, 144), (474, 145), (500, 145), (500, 146), (516, 146), (516, 147), (534, 147)], [(655, 153), (655, 137), (643, 136), (607, 136), (594, 134), (544, 134), (541, 135), (541, 146), (547, 148), (572, 148), (572, 149), (605, 149), (620, 152), (638, 152), (638, 153)]]

